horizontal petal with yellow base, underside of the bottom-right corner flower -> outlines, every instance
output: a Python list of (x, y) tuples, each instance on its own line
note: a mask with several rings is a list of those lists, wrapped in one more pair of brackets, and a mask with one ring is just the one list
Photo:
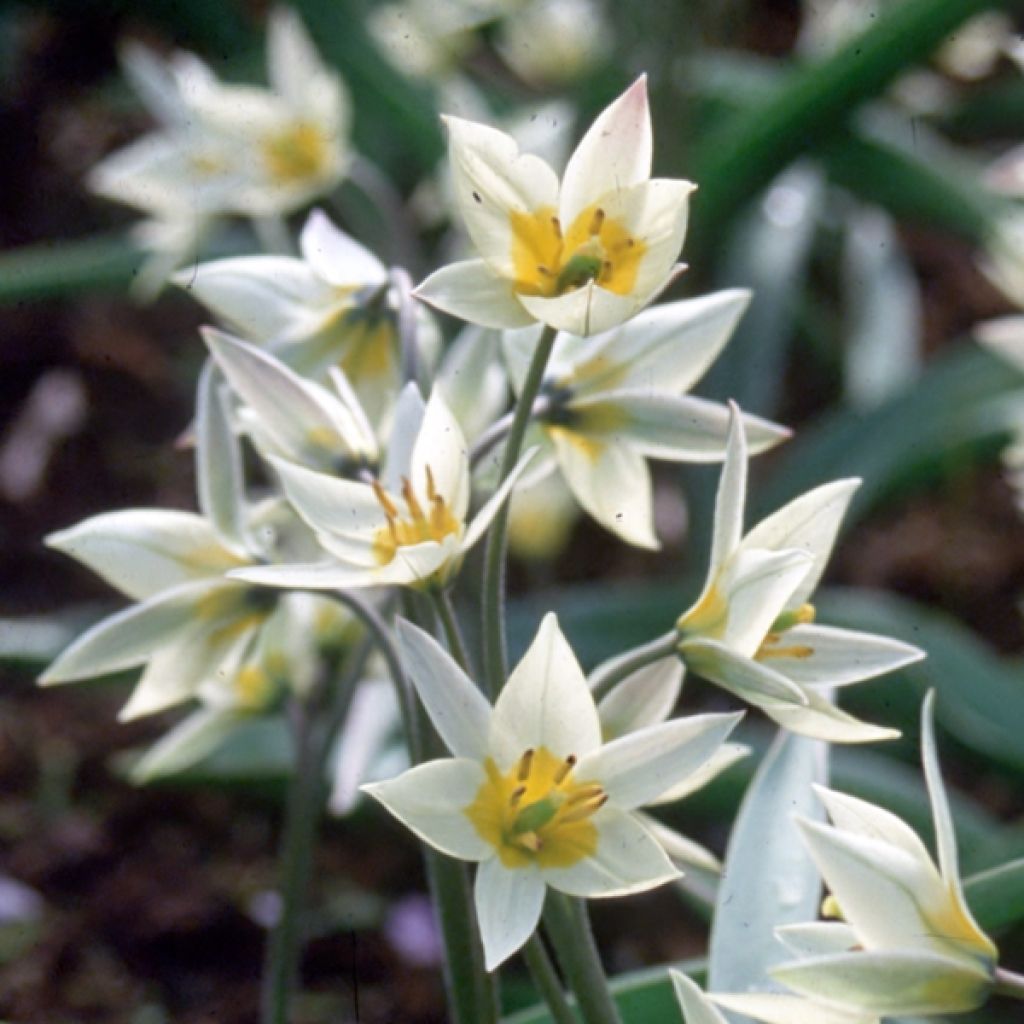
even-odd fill
[(782, 984), (851, 1012), (956, 1014), (989, 996), (991, 978), (980, 968), (926, 952), (837, 953), (772, 970)]

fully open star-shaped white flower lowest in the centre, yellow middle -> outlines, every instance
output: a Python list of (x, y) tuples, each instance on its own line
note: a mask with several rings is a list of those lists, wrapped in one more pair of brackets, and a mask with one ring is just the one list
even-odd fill
[(488, 970), (541, 915), (547, 886), (584, 898), (678, 876), (633, 809), (713, 756), (738, 715), (701, 715), (603, 743), (586, 679), (553, 614), (492, 706), (437, 643), (398, 625), (402, 662), (454, 755), (366, 790), (424, 842), (478, 863)]

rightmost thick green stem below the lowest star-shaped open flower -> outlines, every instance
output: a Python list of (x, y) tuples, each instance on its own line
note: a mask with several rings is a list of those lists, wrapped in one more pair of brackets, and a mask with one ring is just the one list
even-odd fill
[(548, 890), (544, 927), (586, 1024), (623, 1024), (582, 900)]

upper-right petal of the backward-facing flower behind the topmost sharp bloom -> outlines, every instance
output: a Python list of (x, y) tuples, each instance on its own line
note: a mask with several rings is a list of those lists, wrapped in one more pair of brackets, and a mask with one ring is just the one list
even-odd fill
[(751, 301), (741, 288), (644, 309), (580, 354), (586, 364), (600, 356), (601, 370), (575, 378), (587, 393), (636, 388), (679, 394), (705, 375), (732, 335)]

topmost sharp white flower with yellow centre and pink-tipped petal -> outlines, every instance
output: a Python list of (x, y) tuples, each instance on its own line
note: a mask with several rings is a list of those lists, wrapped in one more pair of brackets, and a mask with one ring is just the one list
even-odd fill
[(510, 135), (445, 124), (456, 201), (480, 258), (427, 278), (416, 291), (426, 302), (483, 327), (540, 321), (590, 335), (642, 309), (678, 271), (694, 186), (650, 177), (644, 78), (597, 118), (561, 182)]

